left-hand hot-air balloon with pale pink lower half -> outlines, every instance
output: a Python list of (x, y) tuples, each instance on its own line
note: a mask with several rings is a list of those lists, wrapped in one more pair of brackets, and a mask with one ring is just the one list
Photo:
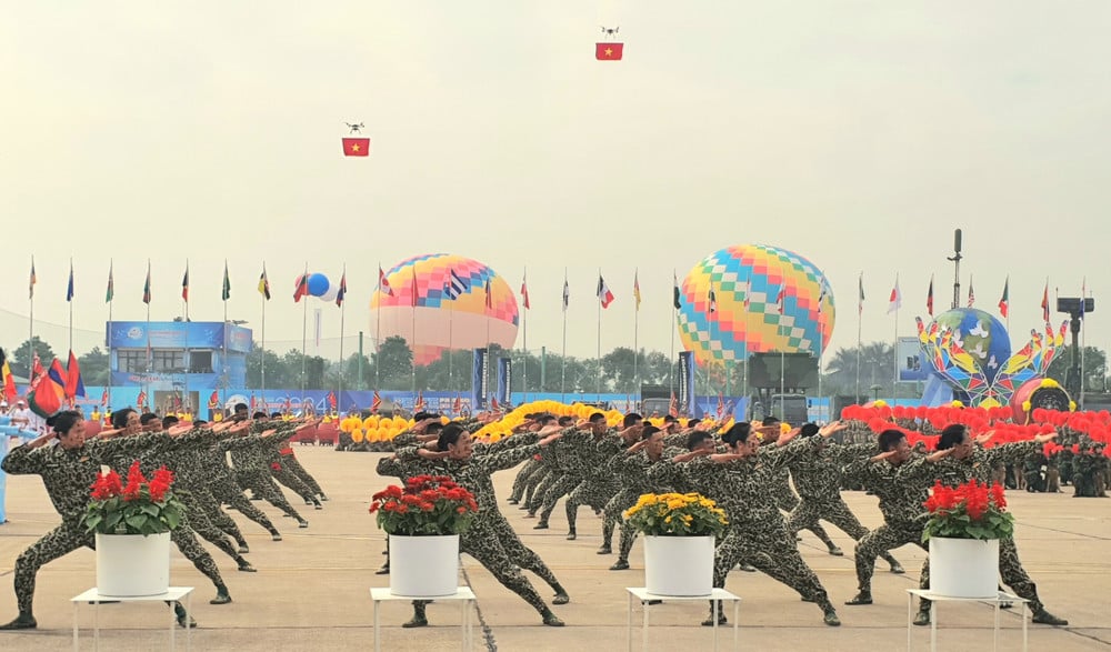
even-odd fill
[[(456, 299), (449, 297), (452, 272), (458, 277)], [(477, 260), (427, 253), (399, 262), (386, 279), (389, 290), (383, 285), (370, 301), (370, 330), (380, 327), (382, 340), (404, 338), (417, 364), (439, 360), (449, 348), (476, 349), (492, 342), (509, 349), (517, 341), (517, 298), (501, 277)]]

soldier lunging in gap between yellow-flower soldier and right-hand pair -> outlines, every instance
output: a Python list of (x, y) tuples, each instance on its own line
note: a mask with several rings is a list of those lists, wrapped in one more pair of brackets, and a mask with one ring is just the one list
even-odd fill
[[(799, 437), (808, 438), (815, 434), (818, 434), (818, 425), (807, 423), (802, 427)], [(787, 529), (791, 534), (797, 534), (800, 530), (817, 524), (819, 519), (833, 523), (845, 534), (852, 536), (854, 541), (860, 541), (864, 534), (868, 534), (868, 528), (860, 523), (849, 505), (845, 504), (844, 499), (841, 498), (841, 470), (845, 464), (865, 455), (874, 448), (875, 444), (871, 443), (830, 445), (823, 441), (818, 444), (815, 454), (791, 461), (789, 464), (791, 477), (794, 478), (794, 487), (801, 496), (799, 504), (791, 510), (787, 519)], [(844, 554), (837, 545), (832, 545), (832, 543), (827, 545), (830, 548), (830, 554), (834, 556)], [(892, 573), (905, 572), (890, 552), (883, 551), (880, 556), (891, 565)]]

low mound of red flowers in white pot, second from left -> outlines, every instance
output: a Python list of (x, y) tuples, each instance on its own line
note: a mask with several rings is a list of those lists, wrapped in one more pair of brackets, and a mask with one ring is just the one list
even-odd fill
[(390, 536), (390, 593), (453, 595), (459, 588), (459, 534), (479, 505), (451, 478), (417, 475), (372, 496), (370, 513)]

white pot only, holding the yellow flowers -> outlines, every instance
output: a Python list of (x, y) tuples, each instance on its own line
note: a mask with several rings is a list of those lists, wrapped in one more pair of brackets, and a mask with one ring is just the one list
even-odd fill
[(644, 588), (653, 595), (709, 595), (713, 536), (644, 536)]

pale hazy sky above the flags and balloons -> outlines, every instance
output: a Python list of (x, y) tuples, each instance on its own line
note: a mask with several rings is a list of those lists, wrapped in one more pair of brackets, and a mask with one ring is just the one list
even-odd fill
[[(593, 59), (600, 24), (624, 61)], [(824, 270), (845, 347), (861, 271), (865, 341), (893, 338), (897, 272), (901, 334), (931, 273), (948, 305), (957, 227), (962, 294), (973, 274), (994, 311), (1010, 274), (1023, 333), (1047, 275), (1111, 284), (1109, 24), (1097, 1), (7, 2), (0, 344), (27, 337), (32, 253), (36, 319), (66, 323), (72, 255), (74, 324), (101, 332), (109, 258), (117, 319), (143, 318), (148, 257), (152, 319), (180, 313), (187, 257), (191, 317), (220, 319), (228, 258), (256, 327), (264, 259), (268, 340), (300, 340), (306, 261), (347, 263), (348, 332), (372, 332), (379, 261), (447, 251), (514, 289), (528, 267), (530, 349), (559, 349), (568, 267), (577, 355), (599, 268), (602, 349), (631, 344), (639, 267), (640, 343), (668, 350), (672, 270), (765, 243)], [(371, 157), (341, 156), (344, 121)]]

